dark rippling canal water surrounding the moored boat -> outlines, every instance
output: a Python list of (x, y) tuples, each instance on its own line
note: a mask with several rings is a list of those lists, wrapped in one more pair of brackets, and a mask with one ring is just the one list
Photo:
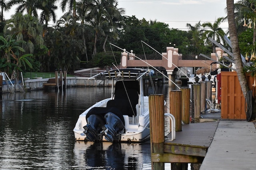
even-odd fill
[[(168, 86), (160, 86), (157, 93), (167, 98)], [(0, 169), (151, 170), (149, 143), (74, 140), (80, 113), (109, 96), (108, 87), (2, 94)], [(165, 166), (170, 169), (170, 164)]]

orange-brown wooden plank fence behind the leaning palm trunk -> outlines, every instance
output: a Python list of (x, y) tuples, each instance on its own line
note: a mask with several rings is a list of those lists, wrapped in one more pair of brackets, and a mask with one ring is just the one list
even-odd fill
[[(250, 90), (254, 77), (246, 75)], [(253, 91), (255, 96), (255, 91)], [(221, 118), (246, 119), (246, 103), (236, 72), (221, 72)]]

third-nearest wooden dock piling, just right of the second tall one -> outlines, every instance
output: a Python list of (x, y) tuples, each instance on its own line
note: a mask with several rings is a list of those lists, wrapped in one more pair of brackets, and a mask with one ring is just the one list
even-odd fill
[(182, 92), (182, 108), (181, 108), (181, 119), (183, 123), (189, 124), (189, 112), (190, 112), (190, 88), (180, 89)]

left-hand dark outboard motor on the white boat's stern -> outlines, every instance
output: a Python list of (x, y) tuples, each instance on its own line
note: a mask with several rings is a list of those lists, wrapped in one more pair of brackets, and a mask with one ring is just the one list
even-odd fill
[(105, 120), (102, 115), (90, 115), (87, 118), (87, 125), (84, 126), (84, 133), (86, 134), (86, 139), (91, 142), (96, 140), (102, 140), (102, 126), (105, 125)]

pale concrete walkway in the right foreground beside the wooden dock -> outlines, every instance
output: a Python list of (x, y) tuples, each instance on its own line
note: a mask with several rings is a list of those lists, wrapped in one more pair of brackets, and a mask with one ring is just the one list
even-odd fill
[(200, 170), (256, 170), (254, 123), (221, 120)]

